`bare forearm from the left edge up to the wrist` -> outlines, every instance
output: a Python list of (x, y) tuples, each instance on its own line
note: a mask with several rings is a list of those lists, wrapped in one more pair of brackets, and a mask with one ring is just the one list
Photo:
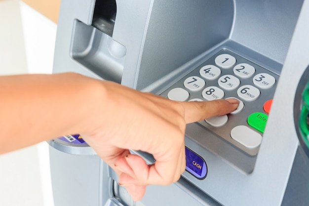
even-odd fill
[(0, 154), (86, 132), (89, 105), (104, 93), (99, 81), (72, 73), (0, 77)]

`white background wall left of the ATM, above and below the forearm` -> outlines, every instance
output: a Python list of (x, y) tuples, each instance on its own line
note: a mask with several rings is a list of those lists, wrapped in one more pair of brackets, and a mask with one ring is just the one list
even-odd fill
[[(52, 21), (0, 0), (0, 75), (51, 73), (55, 37)], [(53, 205), (47, 143), (0, 156), (0, 206)]]

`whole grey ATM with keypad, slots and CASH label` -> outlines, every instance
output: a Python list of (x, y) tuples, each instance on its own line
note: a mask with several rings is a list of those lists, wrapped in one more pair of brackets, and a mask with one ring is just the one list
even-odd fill
[(81, 136), (49, 141), (55, 206), (308, 206), (308, 20), (309, 0), (62, 0), (54, 73), (241, 104), (188, 124), (186, 171), (139, 202)]

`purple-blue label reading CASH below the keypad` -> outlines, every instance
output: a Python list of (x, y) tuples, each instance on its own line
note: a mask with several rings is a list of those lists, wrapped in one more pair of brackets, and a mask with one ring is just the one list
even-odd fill
[(197, 179), (204, 179), (207, 174), (207, 165), (203, 158), (189, 148), (186, 149), (186, 170)]

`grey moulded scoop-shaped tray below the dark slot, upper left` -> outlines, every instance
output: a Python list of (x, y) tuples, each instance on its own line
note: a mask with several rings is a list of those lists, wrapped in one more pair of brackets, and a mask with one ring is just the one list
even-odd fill
[(121, 82), (126, 47), (93, 26), (76, 20), (71, 56), (102, 79)]

